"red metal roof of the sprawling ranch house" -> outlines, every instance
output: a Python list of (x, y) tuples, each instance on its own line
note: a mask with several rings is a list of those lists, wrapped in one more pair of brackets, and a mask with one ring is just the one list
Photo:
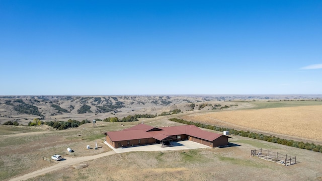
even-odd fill
[(155, 128), (149, 125), (139, 124), (131, 128), (124, 129), (122, 131), (106, 132), (106, 135), (108, 135), (112, 141), (126, 141), (144, 138), (154, 138), (161, 141), (169, 136), (182, 134), (201, 138), (208, 141), (213, 141), (219, 138), (220, 136), (230, 138), (226, 135), (204, 131), (194, 125)]

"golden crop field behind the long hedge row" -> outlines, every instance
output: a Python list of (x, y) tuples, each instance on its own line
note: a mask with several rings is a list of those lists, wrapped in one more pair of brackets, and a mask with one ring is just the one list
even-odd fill
[(322, 106), (222, 111), (185, 116), (183, 119), (322, 140)]

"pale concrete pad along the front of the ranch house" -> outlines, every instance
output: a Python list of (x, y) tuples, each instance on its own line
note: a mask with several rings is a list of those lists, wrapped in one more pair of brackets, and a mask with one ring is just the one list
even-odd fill
[(125, 153), (130, 151), (170, 151), (170, 150), (189, 150), (189, 149), (199, 149), (199, 148), (211, 148), (209, 146), (199, 144), (193, 141), (178, 141), (172, 142), (172, 146), (169, 147), (161, 147), (161, 144), (151, 144), (151, 145), (141, 145), (141, 146), (132, 146), (126, 148), (114, 148), (106, 141), (104, 141), (106, 145), (112, 148), (116, 153)]

